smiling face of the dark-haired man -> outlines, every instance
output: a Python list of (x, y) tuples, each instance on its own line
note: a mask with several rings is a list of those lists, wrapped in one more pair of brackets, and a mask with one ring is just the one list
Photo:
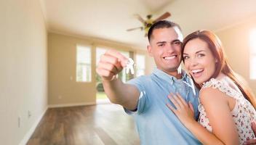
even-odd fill
[(155, 59), (159, 70), (167, 73), (177, 71), (181, 62), (182, 41), (182, 33), (176, 27), (153, 30), (148, 53)]

